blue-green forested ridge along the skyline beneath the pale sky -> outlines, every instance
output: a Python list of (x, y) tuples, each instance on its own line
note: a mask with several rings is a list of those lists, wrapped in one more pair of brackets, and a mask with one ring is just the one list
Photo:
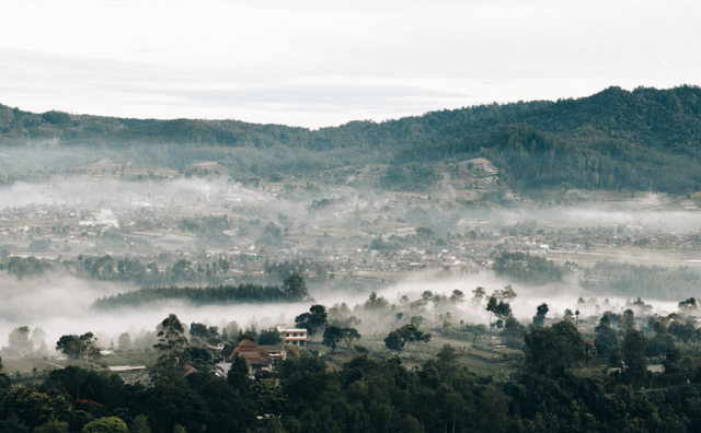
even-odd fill
[[(57, 138), (105, 149), (186, 145), (193, 161), (217, 159), (263, 176), (266, 169), (303, 173), (370, 162), (412, 169), (484, 156), (517, 190), (565, 186), (683, 194), (701, 188), (701, 89), (688, 85), (632, 92), (609, 87), (578, 100), (481, 105), (320, 130), (237, 120), (32, 114), (0, 105), (0, 143)], [(208, 153), (198, 155), (202, 149)], [(285, 163), (255, 154), (271, 149)], [(297, 162), (289, 159), (292, 150)], [(171, 164), (185, 163), (183, 157), (188, 156), (180, 152)], [(388, 173), (387, 185), (394, 184), (401, 184), (401, 171)]]

